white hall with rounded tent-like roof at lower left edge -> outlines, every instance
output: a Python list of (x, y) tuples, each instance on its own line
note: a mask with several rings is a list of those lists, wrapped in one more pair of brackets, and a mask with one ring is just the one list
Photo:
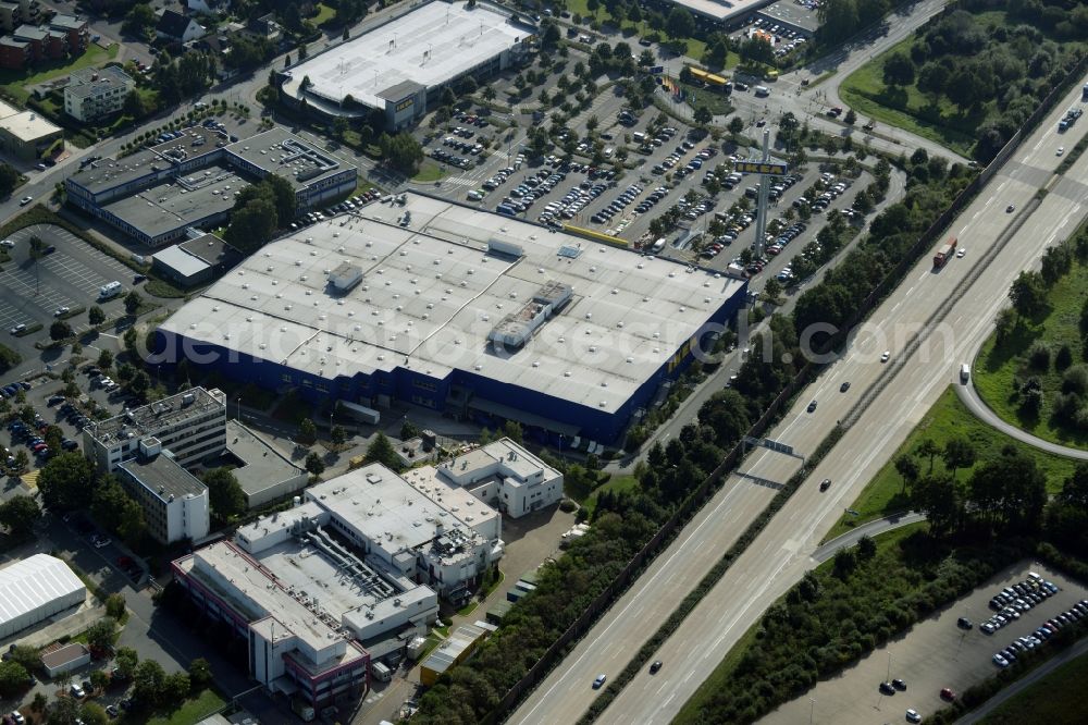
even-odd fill
[(83, 604), (87, 587), (67, 564), (35, 554), (0, 569), (0, 638)]

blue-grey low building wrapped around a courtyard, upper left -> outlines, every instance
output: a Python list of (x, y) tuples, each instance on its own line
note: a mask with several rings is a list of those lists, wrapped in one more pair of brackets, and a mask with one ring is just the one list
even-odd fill
[(249, 184), (290, 182), (299, 212), (356, 187), (357, 170), (279, 126), (242, 140), (191, 126), (123, 159), (94, 161), (64, 180), (66, 200), (149, 247), (218, 226)]

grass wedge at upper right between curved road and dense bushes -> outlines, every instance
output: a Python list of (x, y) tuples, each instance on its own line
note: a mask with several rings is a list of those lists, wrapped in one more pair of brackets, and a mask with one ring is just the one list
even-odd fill
[(914, 85), (894, 90), (887, 88), (885, 61), (893, 53), (908, 52), (912, 44), (913, 39), (907, 38), (851, 73), (839, 86), (839, 96), (858, 115), (871, 116), (968, 156), (975, 144), (970, 130), (981, 125), (993, 105), (987, 103), (978, 113), (964, 115), (943, 97), (934, 107)]

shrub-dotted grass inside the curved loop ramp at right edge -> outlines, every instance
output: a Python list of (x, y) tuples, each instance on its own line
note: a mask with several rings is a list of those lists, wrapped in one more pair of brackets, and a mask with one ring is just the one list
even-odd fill
[[(1053, 366), (1053, 356), (1062, 345), (1073, 352), (1074, 364), (1081, 360), (1080, 309), (1088, 299), (1088, 266), (1074, 262), (1073, 269), (1053, 286), (1048, 295), (1049, 309), (1036, 320), (1022, 321), (1001, 345), (990, 335), (975, 360), (975, 388), (986, 404), (1003, 420), (1039, 438), (1084, 448), (1088, 446), (1088, 430), (1063, 425), (1054, 419), (1053, 402), (1062, 389), (1064, 371)], [(1051, 364), (1046, 370), (1033, 369), (1027, 353), (1036, 342), (1051, 349)], [(1013, 391), (1015, 378), (1035, 376), (1042, 384), (1043, 404), (1038, 418), (1021, 413), (1021, 396)]]

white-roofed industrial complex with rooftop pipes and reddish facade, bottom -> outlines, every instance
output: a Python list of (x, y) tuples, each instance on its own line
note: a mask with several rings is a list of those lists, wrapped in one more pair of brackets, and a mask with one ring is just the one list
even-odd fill
[(403, 650), (502, 555), (499, 515), (461, 489), (421, 491), (370, 465), (173, 562), (209, 615), (247, 638), (250, 675), (320, 706)]

